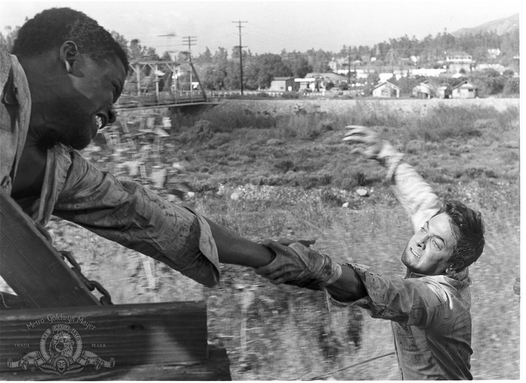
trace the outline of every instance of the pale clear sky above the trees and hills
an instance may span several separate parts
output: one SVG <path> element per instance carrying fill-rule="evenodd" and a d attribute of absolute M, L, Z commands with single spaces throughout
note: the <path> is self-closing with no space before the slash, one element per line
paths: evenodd
<path fill-rule="evenodd" d="M 86 13 L 130 41 L 165 51 L 183 51 L 185 37 L 195 37 L 194 54 L 231 52 L 241 45 L 252 53 L 339 52 L 408 35 L 421 40 L 446 29 L 453 33 L 519 13 L 519 2 L 434 0 L 347 1 L 0 1 L 0 28 L 18 26 L 43 9 L 69 6 Z M 175 34 L 175 36 L 166 36 Z"/>

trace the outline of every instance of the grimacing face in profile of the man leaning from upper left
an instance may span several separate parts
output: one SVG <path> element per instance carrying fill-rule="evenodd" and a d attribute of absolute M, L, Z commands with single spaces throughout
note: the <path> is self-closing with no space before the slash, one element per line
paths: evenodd
<path fill-rule="evenodd" d="M 97 131 L 115 122 L 112 104 L 123 90 L 126 73 L 117 57 L 96 64 L 80 55 L 73 72 L 57 82 L 57 93 L 50 97 L 44 122 L 38 127 L 43 139 L 84 149 Z"/>

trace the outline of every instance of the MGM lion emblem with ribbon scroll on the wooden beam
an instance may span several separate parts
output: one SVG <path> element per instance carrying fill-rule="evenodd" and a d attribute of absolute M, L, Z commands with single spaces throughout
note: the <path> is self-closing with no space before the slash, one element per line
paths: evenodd
<path fill-rule="evenodd" d="M 113 367 L 115 358 L 110 358 L 107 362 L 93 352 L 82 351 L 82 338 L 77 330 L 68 325 L 55 325 L 44 331 L 39 351 L 29 352 L 17 362 L 7 360 L 9 367 L 27 370 L 29 365 L 35 365 L 49 374 L 66 375 L 80 372 L 87 365 L 94 365 L 96 370 L 100 367 Z M 35 368 L 31 370 L 34 371 Z"/>

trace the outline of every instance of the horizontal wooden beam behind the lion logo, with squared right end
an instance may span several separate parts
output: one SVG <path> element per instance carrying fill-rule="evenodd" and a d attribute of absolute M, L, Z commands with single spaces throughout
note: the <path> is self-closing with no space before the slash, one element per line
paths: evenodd
<path fill-rule="evenodd" d="M 22 370 L 9 367 L 7 360 L 23 360 L 33 351 L 52 355 L 48 350 L 60 330 L 56 325 L 70 335 L 74 352 L 93 352 L 105 361 L 114 358 L 117 367 L 207 358 L 205 302 L 2 310 L 0 371 Z"/>

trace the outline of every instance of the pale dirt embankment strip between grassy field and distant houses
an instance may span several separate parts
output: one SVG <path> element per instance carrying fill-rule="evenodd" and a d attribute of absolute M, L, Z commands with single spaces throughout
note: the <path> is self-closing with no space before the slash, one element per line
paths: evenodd
<path fill-rule="evenodd" d="M 221 109 L 236 109 L 240 108 L 249 110 L 254 113 L 272 113 L 272 114 L 288 114 L 295 113 L 298 109 L 303 109 L 306 112 L 339 112 L 350 110 L 357 105 L 364 107 L 373 107 L 379 110 L 398 110 L 401 112 L 418 112 L 424 113 L 426 110 L 437 107 L 438 105 L 451 106 L 493 106 L 498 111 L 504 111 L 510 106 L 519 107 L 520 99 L 431 99 L 431 100 L 222 100 L 217 106 Z"/>

